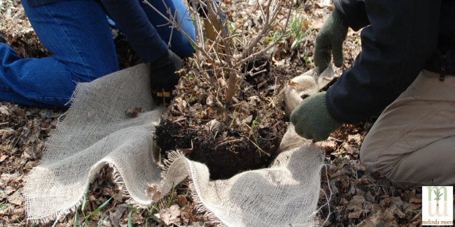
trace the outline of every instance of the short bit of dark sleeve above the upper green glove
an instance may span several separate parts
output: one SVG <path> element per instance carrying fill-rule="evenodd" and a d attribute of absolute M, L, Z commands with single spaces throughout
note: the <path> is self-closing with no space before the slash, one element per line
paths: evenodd
<path fill-rule="evenodd" d="M 364 0 L 334 0 L 333 4 L 354 31 L 358 31 L 360 28 L 370 24 Z"/>

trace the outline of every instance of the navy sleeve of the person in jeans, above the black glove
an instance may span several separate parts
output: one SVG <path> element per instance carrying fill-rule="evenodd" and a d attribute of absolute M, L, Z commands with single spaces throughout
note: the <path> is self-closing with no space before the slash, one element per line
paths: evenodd
<path fill-rule="evenodd" d="M 109 16 L 128 38 L 132 48 L 145 63 L 153 62 L 168 51 L 142 9 L 140 1 L 101 0 Z"/>

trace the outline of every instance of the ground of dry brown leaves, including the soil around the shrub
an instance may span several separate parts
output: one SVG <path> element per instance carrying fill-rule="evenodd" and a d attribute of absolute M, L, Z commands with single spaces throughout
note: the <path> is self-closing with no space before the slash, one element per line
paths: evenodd
<path fill-rule="evenodd" d="M 318 29 L 332 10 L 325 2 L 307 0 L 294 3 L 294 6 L 299 5 L 300 12 L 314 29 Z M 250 27 L 260 23 L 255 19 L 242 21 L 242 14 L 248 13 L 250 2 L 223 3 L 222 8 L 231 21 L 250 23 Z M 24 16 L 20 2 L 2 2 L 0 7 L 0 29 L 19 55 L 47 56 Z M 124 37 L 115 30 L 113 33 L 121 68 L 138 64 L 140 61 Z M 336 73 L 352 66 L 360 50 L 358 34 L 349 32 L 344 45 L 345 63 Z M 296 48 L 290 48 L 292 41 L 292 37 L 288 38 L 270 55 L 255 60 L 267 63 L 269 69 L 266 73 L 245 78 L 230 106 L 219 106 L 216 97 L 204 93 L 204 86 L 208 85 L 203 82 L 191 80 L 191 77 L 182 78 L 177 86 L 178 95 L 168 106 L 157 129 L 157 143 L 163 150 L 178 148 L 190 158 L 207 163 L 213 179 L 267 166 L 276 155 L 286 130 L 285 122 L 289 121 L 280 102 L 280 91 L 288 80 L 313 67 L 310 59 L 314 32 Z M 190 72 L 191 61 L 187 61 L 186 67 Z M 25 219 L 22 187 L 30 169 L 39 163 L 44 142 L 57 127 L 58 117 L 63 112 L 0 102 L 1 225 L 30 225 Z M 392 187 L 387 179 L 368 172 L 359 161 L 359 147 L 375 120 L 344 125 L 327 141 L 320 142 L 326 151 L 327 164 L 321 171 L 320 210 L 317 212 L 321 225 L 421 225 L 421 189 Z M 58 219 L 57 226 L 207 226 L 203 213 L 194 208 L 188 181 L 175 186 L 154 206 L 136 209 L 125 203 L 126 195 L 112 179 L 113 169 L 106 166 L 90 184 L 85 206 Z"/>

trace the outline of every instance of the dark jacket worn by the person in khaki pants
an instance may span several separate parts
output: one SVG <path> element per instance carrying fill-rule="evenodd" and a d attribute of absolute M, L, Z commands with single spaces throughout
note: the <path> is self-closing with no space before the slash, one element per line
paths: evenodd
<path fill-rule="evenodd" d="M 361 31 L 361 52 L 326 95 L 340 122 L 379 113 L 423 70 L 455 75 L 455 1 L 334 0 L 348 25 Z M 454 66 L 454 67 L 452 67 Z M 438 78 L 435 78 L 438 80 Z M 443 83 L 443 82 L 441 82 Z"/>

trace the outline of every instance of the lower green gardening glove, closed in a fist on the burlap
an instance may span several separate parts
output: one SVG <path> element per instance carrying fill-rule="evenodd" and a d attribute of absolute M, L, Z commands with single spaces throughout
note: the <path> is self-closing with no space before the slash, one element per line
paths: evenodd
<path fill-rule="evenodd" d="M 327 109 L 326 92 L 315 93 L 303 99 L 292 111 L 291 123 L 297 134 L 314 141 L 327 139 L 342 124 Z"/>

